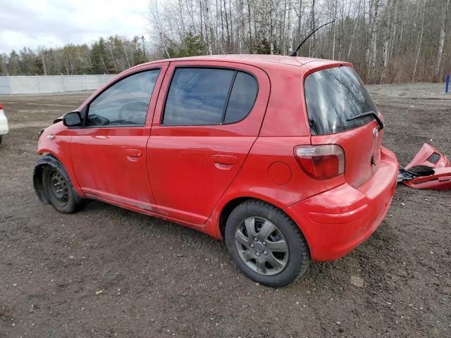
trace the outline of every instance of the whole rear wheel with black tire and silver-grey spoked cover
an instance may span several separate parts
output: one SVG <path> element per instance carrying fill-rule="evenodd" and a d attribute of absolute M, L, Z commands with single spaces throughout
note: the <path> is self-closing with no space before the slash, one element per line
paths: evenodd
<path fill-rule="evenodd" d="M 230 256 L 247 277 L 282 287 L 309 265 L 309 249 L 299 227 L 280 209 L 249 200 L 230 213 L 226 223 Z"/>

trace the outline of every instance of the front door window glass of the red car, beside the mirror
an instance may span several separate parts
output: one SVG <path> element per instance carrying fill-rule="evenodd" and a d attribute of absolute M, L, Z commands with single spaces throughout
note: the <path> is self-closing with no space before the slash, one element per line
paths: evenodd
<path fill-rule="evenodd" d="M 89 104 L 85 126 L 144 125 L 159 69 L 132 74 L 116 82 Z"/>

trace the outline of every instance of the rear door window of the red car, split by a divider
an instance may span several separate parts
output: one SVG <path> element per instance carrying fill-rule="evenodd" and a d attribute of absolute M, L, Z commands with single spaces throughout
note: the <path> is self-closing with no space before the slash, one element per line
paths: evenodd
<path fill-rule="evenodd" d="M 176 68 L 163 125 L 221 125 L 249 113 L 257 98 L 252 75 L 223 68 Z"/>

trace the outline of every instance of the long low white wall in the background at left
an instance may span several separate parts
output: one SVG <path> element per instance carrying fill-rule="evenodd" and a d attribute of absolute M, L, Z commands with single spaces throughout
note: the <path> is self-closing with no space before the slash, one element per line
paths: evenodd
<path fill-rule="evenodd" d="M 94 90 L 115 75 L 0 76 L 0 94 L 42 94 Z"/>

